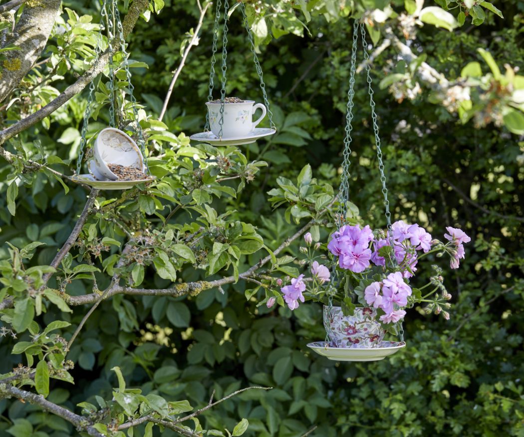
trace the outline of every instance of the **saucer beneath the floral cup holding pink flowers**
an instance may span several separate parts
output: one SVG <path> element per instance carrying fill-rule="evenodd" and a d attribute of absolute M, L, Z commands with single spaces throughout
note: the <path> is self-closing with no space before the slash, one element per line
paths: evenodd
<path fill-rule="evenodd" d="M 345 348 L 329 347 L 326 342 L 309 343 L 308 347 L 317 354 L 335 361 L 378 361 L 406 347 L 402 342 L 380 342 L 380 347 Z"/>

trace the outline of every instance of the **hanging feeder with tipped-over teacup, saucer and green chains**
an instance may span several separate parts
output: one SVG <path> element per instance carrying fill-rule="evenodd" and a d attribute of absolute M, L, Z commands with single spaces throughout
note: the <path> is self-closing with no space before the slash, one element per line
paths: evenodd
<path fill-rule="evenodd" d="M 106 23 L 108 47 L 111 50 L 107 86 L 110 100 L 110 127 L 103 129 L 96 136 L 93 144 L 93 156 L 88 162 L 89 174 L 80 174 L 87 143 L 86 134 L 88 132 L 89 119 L 93 112 L 94 83 L 91 82 L 81 132 L 77 173 L 71 176 L 70 179 L 73 182 L 89 185 L 97 189 L 123 190 L 141 183 L 151 182 L 155 177 L 149 173 L 149 168 L 145 161 L 146 147 L 144 132 L 138 121 L 138 110 L 136 107 L 136 99 L 133 95 L 133 84 L 131 83 L 131 74 L 129 72 L 129 64 L 125 50 L 122 22 L 120 20 L 120 14 L 118 13 L 116 0 L 103 0 L 101 13 L 102 21 L 105 20 Z M 101 39 L 101 35 L 99 35 L 95 48 L 97 57 L 100 55 Z M 115 115 L 117 115 L 118 120 L 123 119 L 115 96 L 114 52 L 112 46 L 112 41 L 115 39 L 123 55 L 122 63 L 126 74 L 126 81 L 128 82 L 129 99 L 133 108 L 135 125 L 133 130 L 137 136 L 137 142 L 125 132 L 115 127 L 117 124 Z"/>

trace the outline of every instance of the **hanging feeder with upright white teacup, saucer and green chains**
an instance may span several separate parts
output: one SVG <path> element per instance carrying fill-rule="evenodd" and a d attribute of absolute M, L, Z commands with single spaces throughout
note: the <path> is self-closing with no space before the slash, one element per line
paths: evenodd
<path fill-rule="evenodd" d="M 228 0 L 224 0 L 223 8 L 222 88 L 220 99 L 213 100 L 216 62 L 215 54 L 217 50 L 216 43 L 219 34 L 219 23 L 222 11 L 221 1 L 218 0 L 216 3 L 215 24 L 213 27 L 213 54 L 211 56 L 211 70 L 209 75 L 209 95 L 208 102 L 206 102 L 208 112 L 206 113 L 204 132 L 190 136 L 190 139 L 194 141 L 220 146 L 238 146 L 254 143 L 259 138 L 273 135 L 277 132 L 272 120 L 271 111 L 269 110 L 269 101 L 267 98 L 264 76 L 255 51 L 255 43 L 247 21 L 245 6 L 242 2 L 237 5 L 242 12 L 244 27 L 246 28 L 250 48 L 253 53 L 253 61 L 260 79 L 260 89 L 264 97 L 264 104 L 256 103 L 253 100 L 239 99 L 237 97 L 226 97 L 225 95 L 227 70 L 227 21 L 229 19 L 229 13 L 231 12 Z M 258 109 L 261 110 L 262 114 L 256 121 L 253 121 L 253 116 Z M 269 124 L 271 127 L 257 127 L 257 125 L 265 118 L 266 114 L 269 117 Z"/>

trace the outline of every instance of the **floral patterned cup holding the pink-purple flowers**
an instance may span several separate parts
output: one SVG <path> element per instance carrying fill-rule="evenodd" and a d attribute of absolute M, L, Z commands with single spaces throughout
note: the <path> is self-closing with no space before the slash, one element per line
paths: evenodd
<path fill-rule="evenodd" d="M 376 320 L 375 308 L 355 308 L 352 316 L 345 316 L 340 306 L 324 306 L 324 328 L 331 347 L 380 347 L 386 332 Z"/>

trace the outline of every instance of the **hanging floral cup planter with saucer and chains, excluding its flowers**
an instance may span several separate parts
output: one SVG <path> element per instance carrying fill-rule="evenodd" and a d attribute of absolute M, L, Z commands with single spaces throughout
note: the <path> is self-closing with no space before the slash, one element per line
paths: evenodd
<path fill-rule="evenodd" d="M 373 101 L 372 80 L 370 76 L 370 66 L 368 62 L 367 43 L 365 39 L 365 28 L 361 20 L 355 20 L 353 27 L 353 47 L 351 56 L 350 70 L 350 88 L 348 90 L 347 112 L 346 112 L 346 135 L 344 139 L 344 162 L 342 164 L 342 181 L 339 190 L 339 210 L 336 215 L 336 227 L 339 230 L 346 225 L 347 202 L 349 200 L 349 169 L 351 155 L 351 131 L 353 120 L 353 100 L 356 70 L 356 50 L 358 45 L 358 31 L 362 36 L 364 50 L 364 61 L 366 62 L 367 83 L 369 92 L 369 101 L 373 119 L 373 128 L 375 131 L 375 143 L 377 147 L 377 156 L 379 162 L 380 180 L 382 192 L 384 194 L 384 205 L 386 207 L 387 220 L 387 238 L 391 247 L 394 246 L 392 241 L 391 216 L 389 212 L 389 201 L 387 198 L 386 177 L 384 175 L 384 164 L 382 162 L 382 152 L 380 149 L 380 138 L 378 135 L 377 115 L 375 113 L 375 102 Z M 331 275 L 331 284 L 334 290 L 341 287 L 342 282 L 339 278 L 339 272 L 336 269 L 336 260 L 333 265 Z M 377 310 L 374 307 L 355 307 L 353 315 L 344 315 L 340 306 L 333 306 L 333 294 L 329 295 L 328 305 L 324 306 L 324 328 L 326 338 L 323 342 L 309 343 L 308 347 L 317 354 L 325 356 L 331 360 L 337 361 L 377 361 L 395 354 L 398 350 L 405 347 L 402 322 L 397 323 L 397 333 L 400 342 L 385 341 L 386 334 L 383 326 L 377 320 Z"/>

